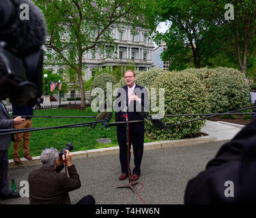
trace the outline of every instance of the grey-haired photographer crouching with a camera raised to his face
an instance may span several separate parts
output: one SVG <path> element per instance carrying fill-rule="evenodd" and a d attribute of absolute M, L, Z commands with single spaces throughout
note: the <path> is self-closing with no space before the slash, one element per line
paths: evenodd
<path fill-rule="evenodd" d="M 69 150 L 72 150 L 71 143 L 60 152 L 55 148 L 42 151 L 42 168 L 29 173 L 30 204 L 71 204 L 68 192 L 79 189 L 81 182 L 76 167 L 71 163 Z M 61 173 L 63 163 L 66 163 L 70 177 Z M 95 200 L 92 196 L 86 196 L 77 204 L 95 204 Z"/>

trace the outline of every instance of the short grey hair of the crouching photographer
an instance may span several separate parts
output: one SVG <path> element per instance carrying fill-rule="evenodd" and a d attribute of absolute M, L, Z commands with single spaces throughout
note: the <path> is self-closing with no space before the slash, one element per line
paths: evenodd
<path fill-rule="evenodd" d="M 59 159 L 59 152 L 55 148 L 44 149 L 40 155 L 43 166 L 55 166 L 55 161 Z"/>

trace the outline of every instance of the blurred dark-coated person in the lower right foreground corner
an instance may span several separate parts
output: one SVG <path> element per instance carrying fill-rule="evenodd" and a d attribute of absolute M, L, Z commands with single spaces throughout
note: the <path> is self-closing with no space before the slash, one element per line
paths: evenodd
<path fill-rule="evenodd" d="M 255 204 L 256 119 L 221 146 L 206 169 L 190 179 L 185 204 Z"/>

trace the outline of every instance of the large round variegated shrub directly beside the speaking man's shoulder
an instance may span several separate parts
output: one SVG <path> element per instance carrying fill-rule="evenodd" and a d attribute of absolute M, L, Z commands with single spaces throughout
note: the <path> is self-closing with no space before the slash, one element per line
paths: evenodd
<path fill-rule="evenodd" d="M 207 89 L 197 76 L 188 72 L 164 72 L 158 76 L 152 87 L 156 88 L 156 93 L 159 93 L 160 88 L 165 88 L 165 114 L 198 114 L 208 113 L 209 95 Z M 159 97 L 157 97 L 157 105 Z M 150 108 L 150 114 L 153 114 Z M 175 116 L 165 117 L 163 121 L 166 125 L 181 123 L 199 117 L 190 116 Z M 193 136 L 197 134 L 204 120 L 176 125 L 171 127 L 169 134 L 165 130 L 160 130 L 154 127 L 150 121 L 145 121 L 145 129 L 147 136 L 158 140 L 177 140 L 184 136 Z"/>

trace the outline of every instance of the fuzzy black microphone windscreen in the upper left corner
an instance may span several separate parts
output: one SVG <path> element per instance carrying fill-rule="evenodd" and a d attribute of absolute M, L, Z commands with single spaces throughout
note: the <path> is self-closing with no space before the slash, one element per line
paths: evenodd
<path fill-rule="evenodd" d="M 46 40 L 46 24 L 42 11 L 31 0 L 12 0 L 15 19 L 9 27 L 1 29 L 0 40 L 7 42 L 21 55 L 27 55 L 40 48 Z M 28 5 L 29 20 L 20 19 L 20 5 Z"/>

